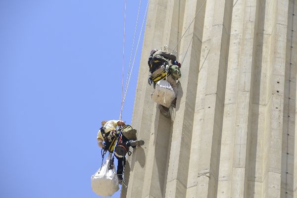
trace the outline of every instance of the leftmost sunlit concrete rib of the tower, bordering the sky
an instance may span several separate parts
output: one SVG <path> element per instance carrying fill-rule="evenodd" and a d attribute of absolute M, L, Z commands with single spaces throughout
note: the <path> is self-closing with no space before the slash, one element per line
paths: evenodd
<path fill-rule="evenodd" d="M 165 16 L 167 0 L 151 0 L 148 8 L 148 19 L 144 36 L 143 55 L 139 70 L 138 86 L 135 96 L 134 113 L 132 126 L 138 130 L 138 139 L 144 140 L 147 144 L 150 138 L 151 122 L 154 121 L 152 114 L 154 102 L 150 99 L 152 88 L 148 86 L 148 66 L 147 58 L 150 50 L 154 46 L 161 46 L 162 35 L 164 34 Z M 127 189 L 122 191 L 121 197 L 140 198 L 143 194 L 143 188 L 134 191 L 139 185 L 144 185 L 144 171 L 147 164 L 148 147 L 134 149 L 133 155 L 128 157 L 128 163 L 125 170 L 125 178 L 128 183 Z M 132 182 L 131 182 L 132 181 Z"/>

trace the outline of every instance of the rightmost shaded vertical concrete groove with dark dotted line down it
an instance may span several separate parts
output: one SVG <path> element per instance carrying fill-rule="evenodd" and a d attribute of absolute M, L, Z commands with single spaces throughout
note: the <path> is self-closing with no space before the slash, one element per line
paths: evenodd
<path fill-rule="evenodd" d="M 296 10 L 294 0 L 288 2 L 288 25 L 285 69 L 285 93 L 284 93 L 284 126 L 283 126 L 283 150 L 282 150 L 282 175 L 281 197 L 296 198 L 296 25 L 294 24 L 294 12 Z M 295 42 L 294 42 L 295 41 Z M 292 48 L 293 47 L 293 48 Z"/>

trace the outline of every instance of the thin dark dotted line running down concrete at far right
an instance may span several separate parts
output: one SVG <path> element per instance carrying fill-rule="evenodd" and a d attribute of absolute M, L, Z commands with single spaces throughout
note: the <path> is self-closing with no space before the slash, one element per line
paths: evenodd
<path fill-rule="evenodd" d="M 291 31 L 291 51 L 290 51 L 290 70 L 289 70 L 289 96 L 288 96 L 288 123 L 287 123 L 287 160 L 286 160 L 286 198 L 288 195 L 288 156 L 289 156 L 289 122 L 290 122 L 290 99 L 291 99 L 291 68 L 292 68 L 292 48 L 293 48 L 293 28 L 294 28 L 294 6 L 295 6 L 295 0 L 293 0 L 293 12 L 292 12 L 292 31 Z M 294 193 L 294 189 L 293 189 Z"/>

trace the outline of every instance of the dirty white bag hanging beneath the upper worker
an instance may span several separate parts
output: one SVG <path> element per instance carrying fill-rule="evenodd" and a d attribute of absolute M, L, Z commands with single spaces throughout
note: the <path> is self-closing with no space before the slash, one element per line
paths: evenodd
<path fill-rule="evenodd" d="M 170 83 L 165 80 L 160 80 L 156 83 L 155 89 L 151 94 L 151 99 L 156 103 L 170 107 L 171 102 L 176 98 Z"/>

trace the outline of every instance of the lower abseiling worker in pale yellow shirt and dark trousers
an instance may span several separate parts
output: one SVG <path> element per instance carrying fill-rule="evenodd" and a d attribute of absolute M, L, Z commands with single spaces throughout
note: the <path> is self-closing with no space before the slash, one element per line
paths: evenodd
<path fill-rule="evenodd" d="M 102 121 L 101 128 L 97 135 L 97 142 L 100 148 L 113 152 L 118 159 L 117 175 L 123 180 L 123 171 L 126 163 L 126 153 L 129 154 L 129 147 L 135 148 L 145 144 L 143 140 L 136 140 L 136 130 L 126 125 L 122 120 Z M 118 128 L 118 130 L 117 130 Z M 117 142 L 117 140 L 119 140 Z M 131 153 L 131 152 L 130 152 Z"/>

